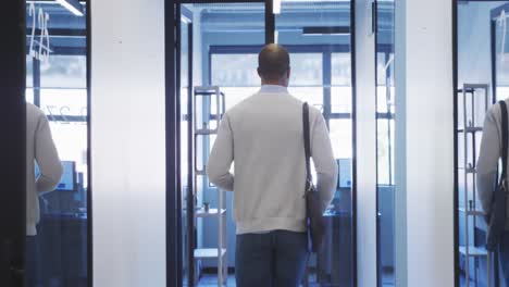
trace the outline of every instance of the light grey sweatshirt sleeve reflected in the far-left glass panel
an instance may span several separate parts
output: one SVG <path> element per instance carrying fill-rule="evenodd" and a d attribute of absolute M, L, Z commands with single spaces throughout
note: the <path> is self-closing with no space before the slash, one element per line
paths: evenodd
<path fill-rule="evenodd" d="M 39 177 L 35 178 L 35 163 Z M 26 104 L 26 234 L 35 236 L 39 222 L 39 195 L 51 191 L 62 176 L 62 164 L 57 153 L 48 118 L 37 107 Z"/>

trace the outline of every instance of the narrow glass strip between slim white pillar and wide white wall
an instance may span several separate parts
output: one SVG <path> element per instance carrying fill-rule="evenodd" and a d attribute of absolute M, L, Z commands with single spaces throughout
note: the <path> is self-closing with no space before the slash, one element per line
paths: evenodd
<path fill-rule="evenodd" d="M 376 1 L 377 286 L 395 286 L 395 1 Z"/>

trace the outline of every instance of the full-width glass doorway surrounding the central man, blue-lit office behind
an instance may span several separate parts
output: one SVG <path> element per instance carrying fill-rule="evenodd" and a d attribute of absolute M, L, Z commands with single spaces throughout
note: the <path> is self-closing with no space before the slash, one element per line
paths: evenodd
<path fill-rule="evenodd" d="M 197 3 L 195 3 L 197 2 Z M 235 286 L 235 224 L 233 195 L 225 195 L 225 221 L 203 211 L 220 211 L 218 189 L 202 167 L 213 146 L 219 111 L 202 88 L 220 87 L 224 108 L 254 93 L 260 87 L 258 53 L 266 41 L 285 46 L 291 57 L 289 91 L 319 108 L 331 130 L 340 166 L 333 203 L 327 209 L 327 247 L 313 257 L 306 285 L 356 285 L 356 197 L 353 185 L 352 1 L 193 1 L 177 5 L 177 88 L 181 154 L 178 235 L 181 274 L 185 286 Z M 271 13 L 274 12 L 274 13 Z M 221 211 L 219 213 L 222 213 Z M 208 215 L 213 214 L 209 213 Z M 220 239 L 221 226 L 225 236 Z M 224 260 L 218 258 L 222 249 Z M 220 255 L 221 257 L 221 255 Z M 221 264 L 228 274 L 221 276 Z"/>

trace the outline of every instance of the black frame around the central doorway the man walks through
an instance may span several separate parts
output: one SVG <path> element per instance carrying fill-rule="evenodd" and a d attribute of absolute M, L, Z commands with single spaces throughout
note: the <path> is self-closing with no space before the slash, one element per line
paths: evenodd
<path fill-rule="evenodd" d="M 183 285 L 182 247 L 182 191 L 181 191 L 181 80 L 179 41 L 181 4 L 186 3 L 264 3 L 265 42 L 274 42 L 275 15 L 273 0 L 166 0 L 165 15 L 165 121 L 166 121 L 166 286 Z M 350 27 L 356 27 L 356 1 L 350 1 Z M 352 178 L 357 176 L 357 112 L 356 112 L 356 32 L 351 29 L 351 85 L 352 85 Z M 191 71 L 190 68 L 189 71 Z M 191 73 L 191 72 L 190 72 Z M 191 77 L 193 78 L 193 75 Z M 190 95 L 190 93 L 189 93 Z M 188 115 L 191 113 L 188 107 Z M 191 116 L 189 116 L 190 118 Z M 189 149 L 191 150 L 191 149 Z M 191 152 L 191 151 L 190 151 Z M 188 154 L 188 157 L 191 157 Z M 188 159 L 189 160 L 189 159 Z M 190 161 L 193 162 L 193 161 Z M 189 182 L 191 183 L 191 182 Z M 193 203 L 193 202 L 191 202 Z M 353 286 L 357 286 L 357 185 L 352 185 L 352 272 Z M 187 219 L 189 220 L 189 219 Z M 188 254 L 193 254 L 189 252 Z M 189 260 L 189 259 L 188 259 Z M 188 276 L 188 280 L 193 276 Z M 190 283 L 190 282 L 188 282 Z M 193 286 L 193 285 L 189 285 Z"/>

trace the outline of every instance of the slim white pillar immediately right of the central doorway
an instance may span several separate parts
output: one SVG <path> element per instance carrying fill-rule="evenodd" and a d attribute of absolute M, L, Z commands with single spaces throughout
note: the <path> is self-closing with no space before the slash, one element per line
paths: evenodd
<path fill-rule="evenodd" d="M 372 0 L 356 1 L 357 278 L 376 286 L 376 101 Z"/>

